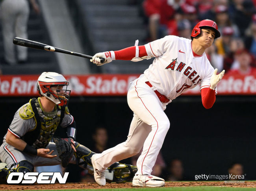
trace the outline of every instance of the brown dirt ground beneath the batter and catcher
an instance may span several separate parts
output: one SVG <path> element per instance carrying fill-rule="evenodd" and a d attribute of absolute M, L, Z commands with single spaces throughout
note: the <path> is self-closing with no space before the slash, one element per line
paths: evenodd
<path fill-rule="evenodd" d="M 166 182 L 165 187 L 173 186 L 223 186 L 223 187 L 256 187 L 256 181 L 244 183 L 225 183 L 219 182 Z M 67 183 L 67 184 L 33 184 L 33 185 L 8 185 L 0 184 L 0 190 L 37 190 L 37 189 L 98 189 L 98 188 L 131 188 L 132 183 L 125 184 L 106 184 L 98 186 L 96 183 Z"/>

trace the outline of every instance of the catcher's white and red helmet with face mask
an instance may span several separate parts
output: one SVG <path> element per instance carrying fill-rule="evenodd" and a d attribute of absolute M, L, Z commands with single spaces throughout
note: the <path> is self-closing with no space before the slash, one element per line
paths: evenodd
<path fill-rule="evenodd" d="M 67 106 L 69 102 L 69 82 L 63 75 L 55 72 L 43 72 L 37 80 L 37 91 L 59 106 Z M 54 88 L 53 88 L 54 87 Z"/>

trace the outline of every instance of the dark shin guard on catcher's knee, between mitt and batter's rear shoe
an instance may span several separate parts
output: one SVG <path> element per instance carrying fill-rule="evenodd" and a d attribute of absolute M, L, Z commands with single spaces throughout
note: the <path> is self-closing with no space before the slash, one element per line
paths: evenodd
<path fill-rule="evenodd" d="M 92 166 L 91 156 L 95 153 L 78 142 L 74 142 L 74 144 L 76 148 L 76 153 L 74 153 L 74 155 L 76 156 L 76 164 L 83 169 L 87 169 L 87 164 Z"/>

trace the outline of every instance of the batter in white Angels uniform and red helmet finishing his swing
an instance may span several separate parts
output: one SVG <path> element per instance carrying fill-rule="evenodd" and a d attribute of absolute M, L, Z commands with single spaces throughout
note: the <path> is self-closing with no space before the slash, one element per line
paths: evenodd
<path fill-rule="evenodd" d="M 112 60 L 139 61 L 154 57 L 153 63 L 128 90 L 128 105 L 134 112 L 128 138 L 125 142 L 93 155 L 94 177 L 99 185 L 105 185 L 104 170 L 113 162 L 143 151 L 137 160 L 138 171 L 132 185 L 141 187 L 164 186 L 163 178 L 150 175 L 165 135 L 170 127 L 164 110 L 172 100 L 188 89 L 200 85 L 202 104 L 213 106 L 216 86 L 224 75 L 217 75 L 204 53 L 221 34 L 212 20 L 202 20 L 191 33 L 191 40 L 178 36 L 165 36 L 143 46 L 128 47 L 120 51 L 97 53 L 91 59 L 96 65 Z M 105 58 L 100 63 L 100 58 Z"/>

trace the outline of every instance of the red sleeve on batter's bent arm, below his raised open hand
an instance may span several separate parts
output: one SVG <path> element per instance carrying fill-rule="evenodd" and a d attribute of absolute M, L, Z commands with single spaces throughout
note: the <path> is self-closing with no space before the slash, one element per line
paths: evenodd
<path fill-rule="evenodd" d="M 215 90 L 210 89 L 210 87 L 203 88 L 201 89 L 201 97 L 203 106 L 206 109 L 210 109 L 216 100 Z"/>

